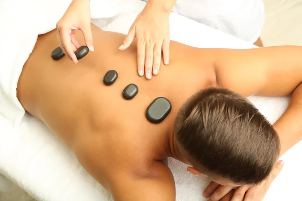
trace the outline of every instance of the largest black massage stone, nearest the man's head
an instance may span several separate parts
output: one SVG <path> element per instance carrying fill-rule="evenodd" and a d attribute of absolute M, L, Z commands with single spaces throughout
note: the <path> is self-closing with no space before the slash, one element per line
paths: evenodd
<path fill-rule="evenodd" d="M 158 97 L 148 106 L 146 117 L 149 122 L 161 123 L 171 112 L 172 105 L 170 100 L 165 97 Z"/>

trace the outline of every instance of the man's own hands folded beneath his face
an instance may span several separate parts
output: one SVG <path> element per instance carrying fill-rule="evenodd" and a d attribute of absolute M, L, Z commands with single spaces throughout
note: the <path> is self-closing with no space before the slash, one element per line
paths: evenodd
<path fill-rule="evenodd" d="M 283 161 L 278 161 L 269 178 L 259 185 L 243 185 L 234 190 L 233 187 L 222 186 L 212 181 L 204 190 L 203 195 L 209 197 L 208 200 L 210 201 L 262 201 L 269 186 L 282 170 L 283 165 Z"/>

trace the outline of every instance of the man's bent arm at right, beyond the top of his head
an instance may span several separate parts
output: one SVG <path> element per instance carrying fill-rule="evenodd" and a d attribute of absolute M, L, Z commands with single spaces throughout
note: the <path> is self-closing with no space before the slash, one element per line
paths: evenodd
<path fill-rule="evenodd" d="M 288 109 L 274 125 L 281 140 L 281 155 L 302 140 L 302 47 L 213 51 L 219 86 L 245 96 L 292 94 Z"/>

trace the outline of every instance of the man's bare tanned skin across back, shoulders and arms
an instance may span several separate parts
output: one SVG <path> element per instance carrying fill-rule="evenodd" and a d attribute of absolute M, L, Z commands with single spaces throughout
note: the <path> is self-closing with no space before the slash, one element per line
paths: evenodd
<path fill-rule="evenodd" d="M 95 52 L 77 65 L 66 56 L 51 59 L 51 51 L 58 46 L 56 31 L 40 35 L 23 67 L 17 96 L 24 109 L 43 121 L 115 200 L 175 200 L 167 158 L 188 161 L 177 147 L 173 123 L 184 102 L 202 88 L 226 87 L 246 96 L 293 93 L 275 129 L 281 153 L 300 140 L 301 47 L 199 49 L 172 41 L 170 65 L 161 63 L 161 73 L 146 80 L 137 75 L 135 43 L 120 51 L 117 47 L 125 35 L 91 27 Z M 83 44 L 82 36 L 75 31 Z M 106 86 L 102 79 L 111 69 L 119 76 Z M 121 94 L 129 83 L 135 83 L 139 92 L 125 100 Z M 145 110 L 159 96 L 170 100 L 172 111 L 161 124 L 152 124 Z M 285 137 L 287 131 L 291 133 Z M 191 172 L 197 170 L 191 168 Z M 225 180 L 221 184 L 232 186 Z"/>

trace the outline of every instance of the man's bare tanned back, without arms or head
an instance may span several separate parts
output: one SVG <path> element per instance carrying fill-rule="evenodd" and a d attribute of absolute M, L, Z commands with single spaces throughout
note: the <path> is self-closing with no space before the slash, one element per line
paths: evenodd
<path fill-rule="evenodd" d="M 214 83 L 209 53 L 171 42 L 170 64 L 161 65 L 152 80 L 136 70 L 136 45 L 118 50 L 124 35 L 92 26 L 95 52 L 73 64 L 66 56 L 52 60 L 58 46 L 56 31 L 38 37 L 18 83 L 23 107 L 41 119 L 107 189 L 108 175 L 118 167 L 129 174 L 152 174 L 157 162 L 169 156 L 168 135 L 185 100 Z M 77 38 L 83 44 L 81 33 Z M 108 70 L 118 72 L 111 86 L 103 83 Z M 130 83 L 138 94 L 125 100 L 122 91 Z M 145 118 L 146 108 L 167 97 L 172 111 L 161 124 Z M 151 168 L 152 167 L 152 168 Z"/>

